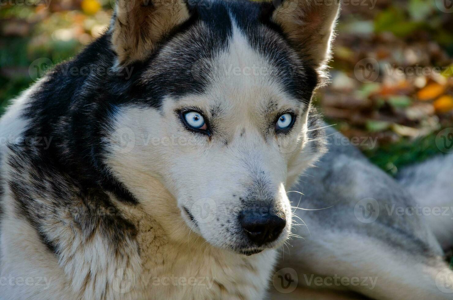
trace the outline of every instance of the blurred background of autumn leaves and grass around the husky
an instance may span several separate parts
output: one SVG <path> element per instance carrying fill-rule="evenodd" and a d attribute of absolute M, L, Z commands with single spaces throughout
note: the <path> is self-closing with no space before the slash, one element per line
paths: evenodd
<path fill-rule="evenodd" d="M 107 28 L 115 0 L 0 0 L 0 115 Z M 453 0 L 342 0 L 315 104 L 389 174 L 453 152 Z"/>

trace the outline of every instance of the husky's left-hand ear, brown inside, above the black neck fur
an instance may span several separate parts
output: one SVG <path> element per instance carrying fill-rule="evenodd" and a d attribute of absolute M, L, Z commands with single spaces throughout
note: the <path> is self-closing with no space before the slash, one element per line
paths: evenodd
<path fill-rule="evenodd" d="M 185 0 L 116 0 L 110 28 L 116 67 L 147 58 L 165 35 L 189 17 Z"/>

